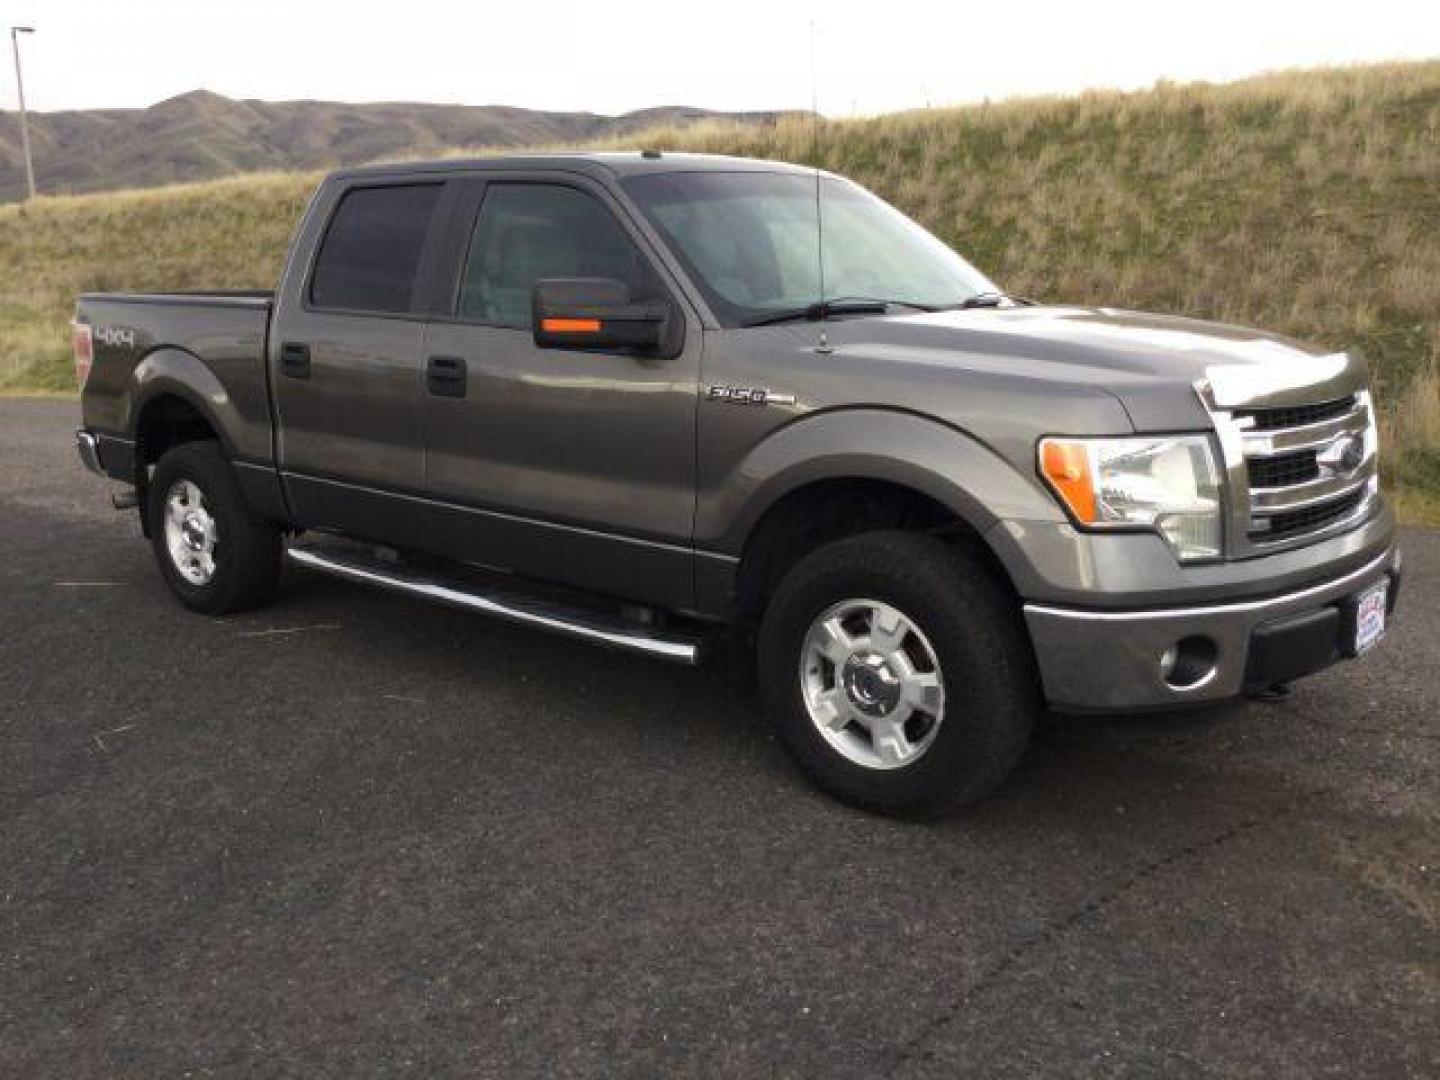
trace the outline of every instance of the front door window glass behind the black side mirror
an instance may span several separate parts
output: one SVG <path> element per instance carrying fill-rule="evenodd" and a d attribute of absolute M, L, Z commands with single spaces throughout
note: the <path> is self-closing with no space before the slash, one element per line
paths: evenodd
<path fill-rule="evenodd" d="M 492 184 L 469 242 L 459 317 L 528 330 L 541 278 L 615 278 L 635 300 L 661 295 L 645 258 L 592 196 L 557 184 Z"/>

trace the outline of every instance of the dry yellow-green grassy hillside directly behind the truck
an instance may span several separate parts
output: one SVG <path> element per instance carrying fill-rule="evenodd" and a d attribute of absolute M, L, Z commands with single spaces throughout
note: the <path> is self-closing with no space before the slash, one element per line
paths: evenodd
<path fill-rule="evenodd" d="M 608 145 L 816 160 L 795 120 Z M 1440 520 L 1440 62 L 827 122 L 819 145 L 1011 291 L 1362 350 L 1387 478 Z M 315 179 L 0 207 L 0 386 L 69 384 L 81 289 L 269 287 Z"/>

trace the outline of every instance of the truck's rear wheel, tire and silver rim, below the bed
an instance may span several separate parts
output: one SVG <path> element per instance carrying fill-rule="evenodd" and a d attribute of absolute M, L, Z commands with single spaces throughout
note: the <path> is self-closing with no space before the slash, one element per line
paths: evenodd
<path fill-rule="evenodd" d="M 279 528 L 245 505 L 219 444 L 166 451 L 150 480 L 145 516 L 160 573 L 192 611 L 243 611 L 275 590 Z"/>

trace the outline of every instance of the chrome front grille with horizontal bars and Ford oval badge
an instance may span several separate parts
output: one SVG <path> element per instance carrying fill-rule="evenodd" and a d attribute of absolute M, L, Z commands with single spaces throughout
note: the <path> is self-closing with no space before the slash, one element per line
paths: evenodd
<path fill-rule="evenodd" d="M 1378 494 L 1369 393 L 1318 403 L 1290 393 L 1269 408 L 1218 408 L 1215 422 L 1228 478 L 1227 550 L 1233 557 L 1310 543 L 1355 526 Z"/>

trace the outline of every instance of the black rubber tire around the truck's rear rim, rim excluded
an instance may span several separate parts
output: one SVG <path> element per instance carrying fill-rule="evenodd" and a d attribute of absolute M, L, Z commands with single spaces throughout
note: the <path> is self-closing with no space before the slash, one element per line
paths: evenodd
<path fill-rule="evenodd" d="M 170 553 L 166 505 L 181 481 L 199 488 L 215 526 L 213 564 L 209 580 L 189 580 Z M 184 442 L 166 451 L 156 465 L 145 497 L 150 546 L 170 590 L 192 611 L 206 615 L 255 608 L 269 599 L 279 579 L 281 531 L 274 521 L 256 517 L 216 442 Z"/>

